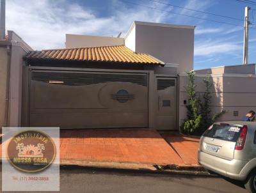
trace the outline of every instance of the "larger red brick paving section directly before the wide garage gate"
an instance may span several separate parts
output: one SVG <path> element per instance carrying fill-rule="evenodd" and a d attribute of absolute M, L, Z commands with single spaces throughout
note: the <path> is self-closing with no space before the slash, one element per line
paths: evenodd
<path fill-rule="evenodd" d="M 61 159 L 184 164 L 156 130 L 61 130 L 60 136 Z"/>

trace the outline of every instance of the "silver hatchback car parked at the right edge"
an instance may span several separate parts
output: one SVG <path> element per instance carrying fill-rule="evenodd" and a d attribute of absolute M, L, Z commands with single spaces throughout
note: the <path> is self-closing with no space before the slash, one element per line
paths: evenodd
<path fill-rule="evenodd" d="M 198 162 L 256 193 L 256 122 L 218 122 L 200 139 Z"/>

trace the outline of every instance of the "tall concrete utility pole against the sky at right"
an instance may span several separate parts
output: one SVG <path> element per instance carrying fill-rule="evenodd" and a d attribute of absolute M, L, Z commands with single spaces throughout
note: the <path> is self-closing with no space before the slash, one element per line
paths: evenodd
<path fill-rule="evenodd" d="M 244 12 L 244 54 L 243 54 L 243 65 L 248 64 L 248 39 L 249 39 L 249 10 L 248 6 L 245 7 Z"/>

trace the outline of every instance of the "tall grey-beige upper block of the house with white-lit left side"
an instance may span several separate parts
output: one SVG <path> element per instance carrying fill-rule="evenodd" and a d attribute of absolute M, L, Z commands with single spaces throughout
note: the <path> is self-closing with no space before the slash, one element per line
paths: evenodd
<path fill-rule="evenodd" d="M 134 27 L 135 30 L 131 27 L 125 36 L 127 47 L 132 49 L 131 41 L 135 42 L 135 52 L 150 54 L 164 63 L 178 64 L 178 73 L 193 70 L 194 26 L 134 22 Z"/>

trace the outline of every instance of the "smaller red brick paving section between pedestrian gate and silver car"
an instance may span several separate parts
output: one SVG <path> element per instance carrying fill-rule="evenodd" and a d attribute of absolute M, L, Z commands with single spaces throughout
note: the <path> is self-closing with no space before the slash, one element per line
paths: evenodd
<path fill-rule="evenodd" d="M 185 137 L 177 132 L 160 132 L 160 134 L 177 151 L 184 164 L 198 164 L 199 137 Z"/>

